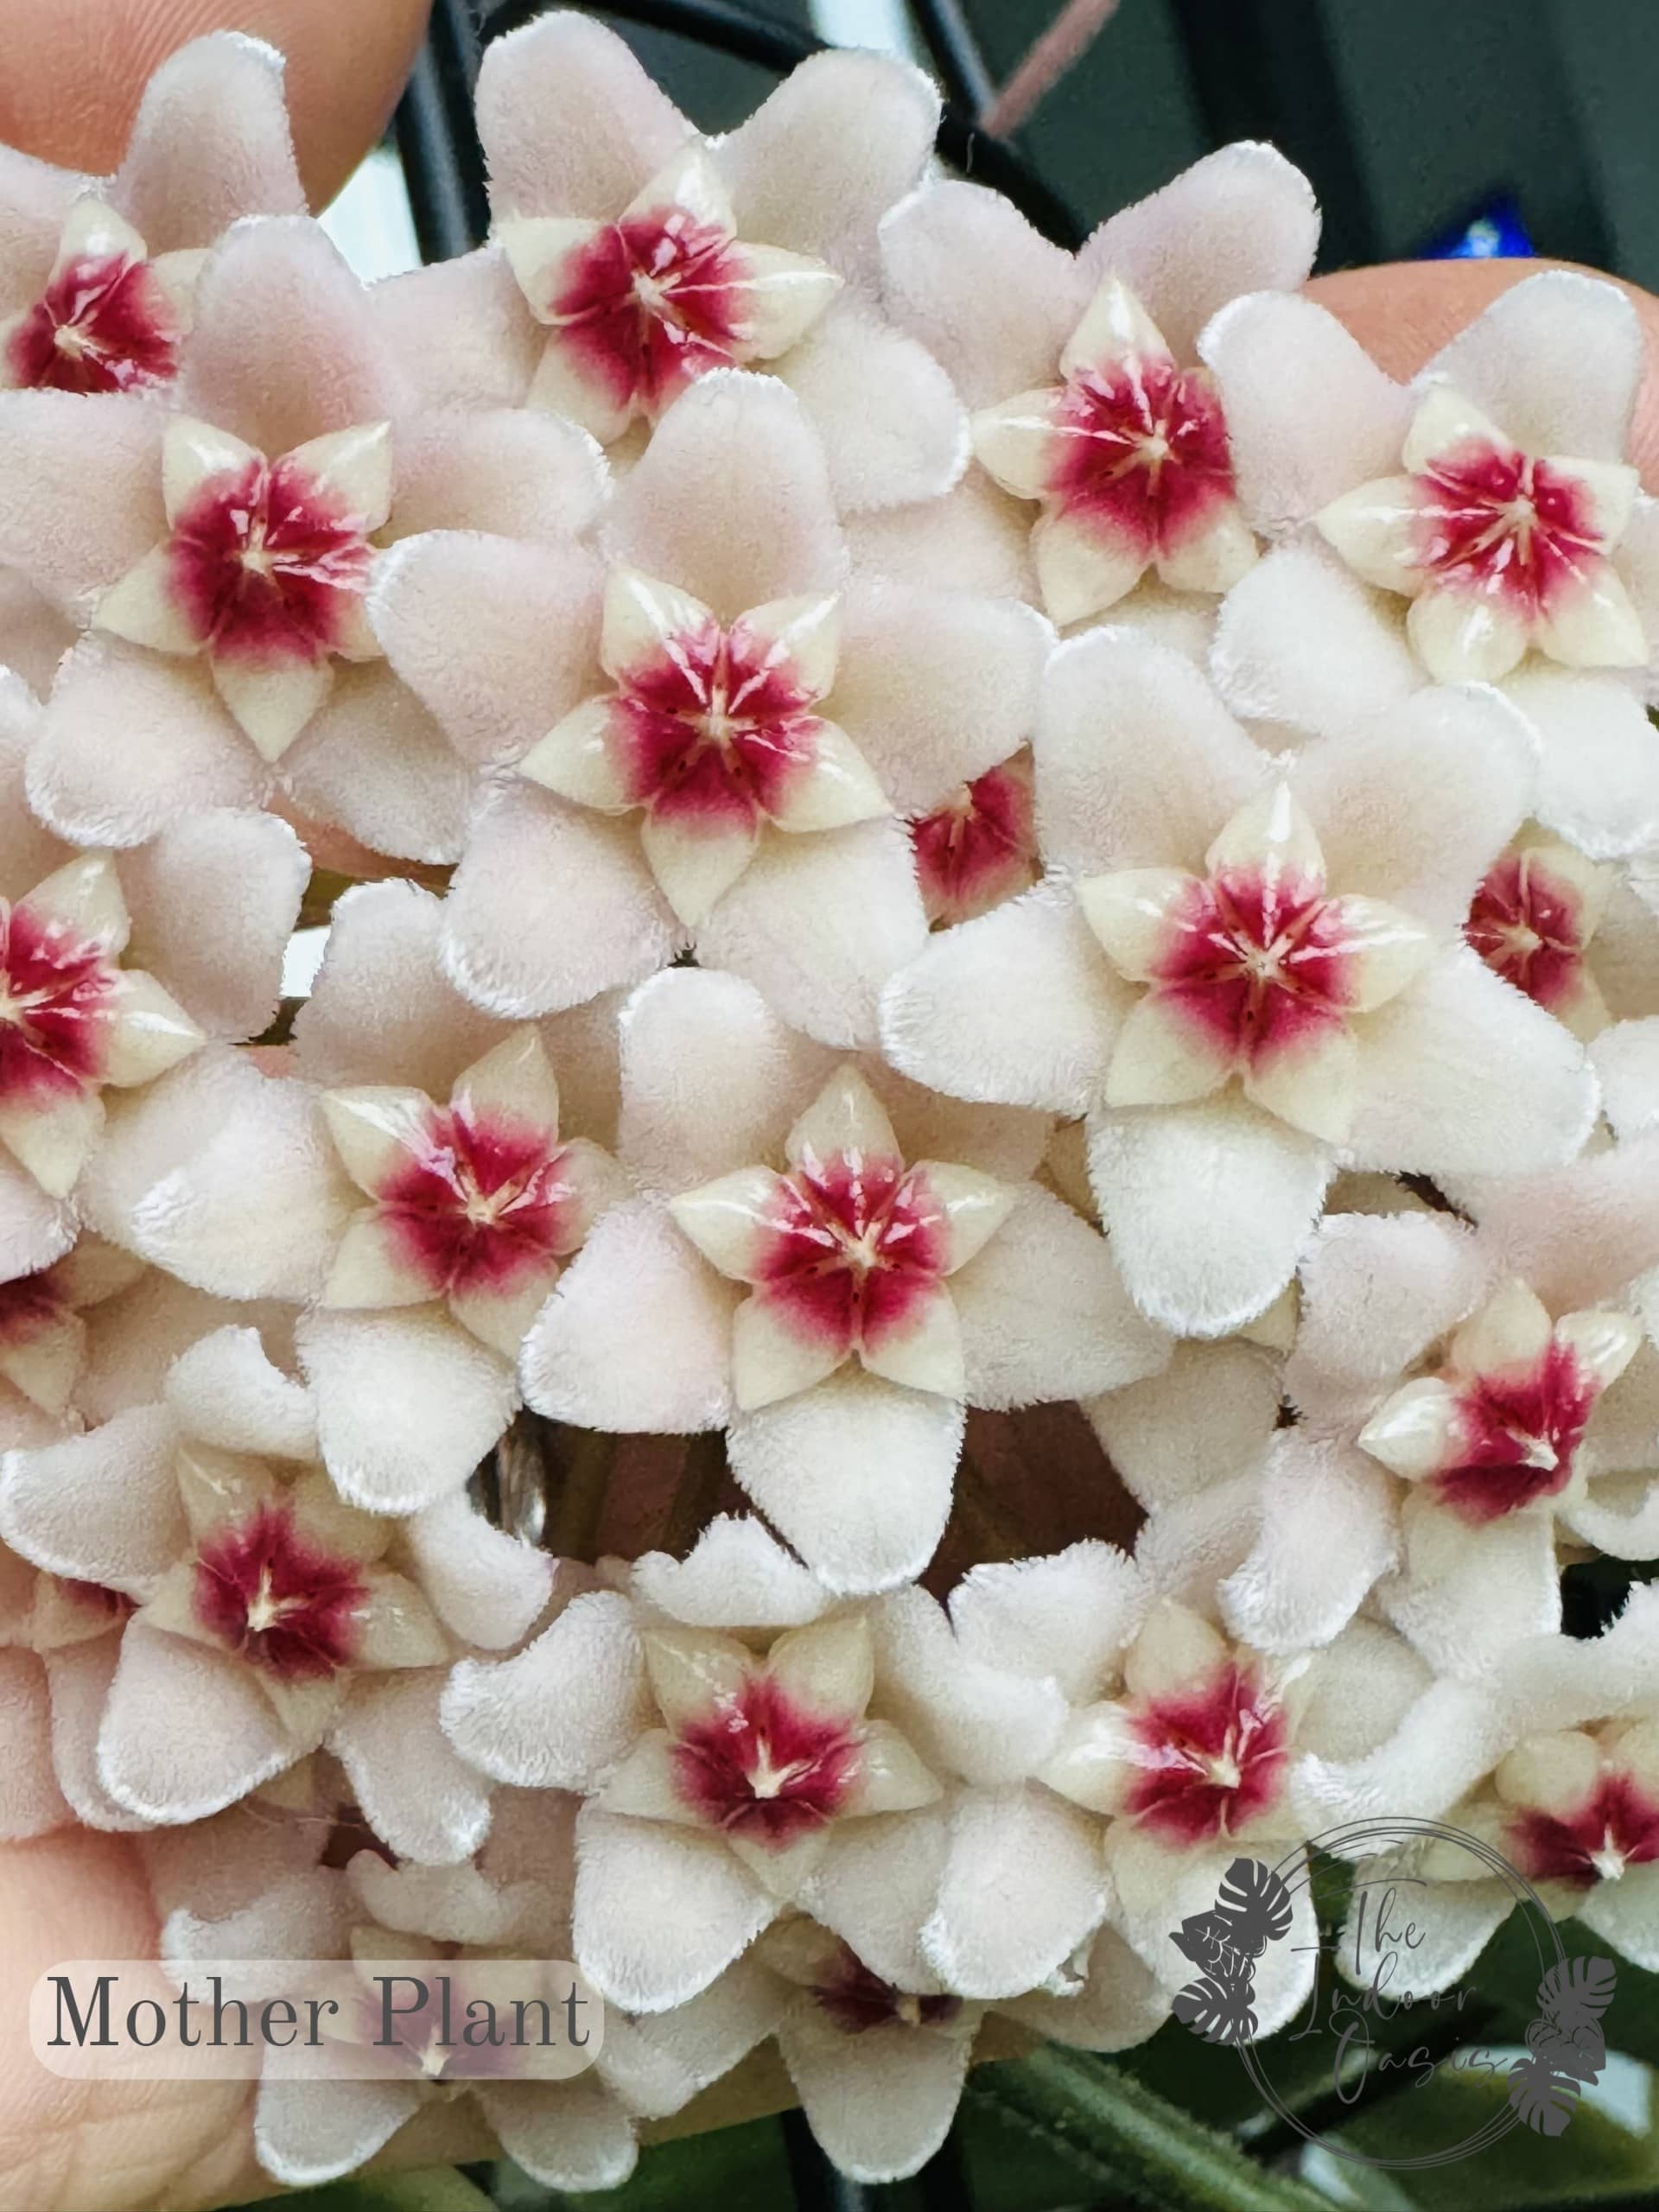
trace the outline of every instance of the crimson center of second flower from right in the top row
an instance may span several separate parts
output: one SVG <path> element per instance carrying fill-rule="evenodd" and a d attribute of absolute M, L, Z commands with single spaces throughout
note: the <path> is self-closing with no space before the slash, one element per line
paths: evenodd
<path fill-rule="evenodd" d="M 1055 429 L 1051 495 L 1130 535 L 1148 557 L 1177 551 L 1234 495 L 1221 405 L 1172 361 L 1130 356 L 1073 372 Z"/>

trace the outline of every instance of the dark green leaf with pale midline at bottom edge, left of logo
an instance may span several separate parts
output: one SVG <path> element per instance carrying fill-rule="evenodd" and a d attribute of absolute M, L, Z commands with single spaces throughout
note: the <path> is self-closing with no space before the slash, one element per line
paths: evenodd
<path fill-rule="evenodd" d="M 1194 2046 L 1197 2048 L 1197 2046 Z M 1144 2081 L 1051 2046 L 969 2077 L 969 2110 L 991 2110 L 1088 2181 L 1137 2205 L 1181 2212 L 1329 2212 L 1329 2199 L 1252 2163 L 1237 2143 Z"/>

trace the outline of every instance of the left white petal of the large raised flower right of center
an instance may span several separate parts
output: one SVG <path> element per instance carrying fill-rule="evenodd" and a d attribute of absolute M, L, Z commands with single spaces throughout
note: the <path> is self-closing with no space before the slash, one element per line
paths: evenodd
<path fill-rule="evenodd" d="M 1073 891 L 1040 885 L 936 936 L 883 993 L 883 1048 L 967 1099 L 1084 1113 L 1130 993 Z"/>

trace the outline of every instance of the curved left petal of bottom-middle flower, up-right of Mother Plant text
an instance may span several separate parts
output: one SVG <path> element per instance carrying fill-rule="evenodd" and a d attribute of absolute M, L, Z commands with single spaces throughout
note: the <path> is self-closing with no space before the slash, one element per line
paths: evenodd
<path fill-rule="evenodd" d="M 513 1659 L 462 1659 L 442 1725 L 493 1781 L 588 1792 L 630 1750 L 650 1710 L 633 1610 L 617 1593 L 595 1590 Z"/>

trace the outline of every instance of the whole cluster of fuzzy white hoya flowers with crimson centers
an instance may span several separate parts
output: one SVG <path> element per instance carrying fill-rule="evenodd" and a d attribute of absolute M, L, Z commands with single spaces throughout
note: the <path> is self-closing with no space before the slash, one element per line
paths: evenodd
<path fill-rule="evenodd" d="M 478 115 L 374 288 L 248 40 L 0 166 L 0 1827 L 604 1997 L 265 2079 L 288 2183 L 717 2081 L 911 2172 L 1349 1812 L 1659 1969 L 1659 1608 L 1562 1635 L 1659 1555 L 1630 305 L 1400 387 L 1270 148 L 1071 257 L 869 55 L 706 139 L 549 15 Z"/>

